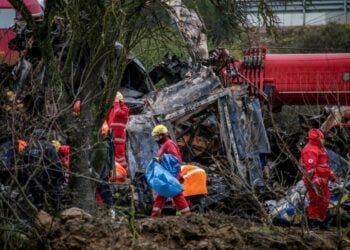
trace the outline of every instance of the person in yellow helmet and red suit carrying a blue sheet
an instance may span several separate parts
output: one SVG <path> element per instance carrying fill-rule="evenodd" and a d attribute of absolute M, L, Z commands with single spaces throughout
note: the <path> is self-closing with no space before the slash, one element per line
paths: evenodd
<path fill-rule="evenodd" d="M 160 148 L 157 153 L 157 158 L 160 159 L 163 154 L 172 154 L 175 156 L 180 164 L 182 162 L 181 159 L 181 153 L 174 141 L 172 141 L 168 135 L 168 129 L 160 124 L 154 127 L 152 131 L 152 136 L 154 140 L 159 144 Z M 156 195 L 153 209 L 152 209 L 152 214 L 151 217 L 157 217 L 160 216 L 161 210 L 164 207 L 167 197 L 160 196 L 159 194 Z M 188 203 L 183 195 L 183 193 L 175 196 L 172 198 L 176 207 L 179 209 L 179 211 L 182 214 L 189 214 L 191 213 L 190 208 L 188 206 Z"/>

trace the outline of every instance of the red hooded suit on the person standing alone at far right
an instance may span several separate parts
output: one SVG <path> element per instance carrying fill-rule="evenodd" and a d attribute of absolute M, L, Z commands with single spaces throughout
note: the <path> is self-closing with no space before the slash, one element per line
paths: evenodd
<path fill-rule="evenodd" d="M 319 129 L 310 129 L 309 142 L 301 151 L 301 164 L 304 168 L 303 181 L 309 195 L 308 216 L 310 219 L 325 220 L 330 193 L 328 181 L 335 180 L 328 154 L 321 143 L 324 138 Z"/>

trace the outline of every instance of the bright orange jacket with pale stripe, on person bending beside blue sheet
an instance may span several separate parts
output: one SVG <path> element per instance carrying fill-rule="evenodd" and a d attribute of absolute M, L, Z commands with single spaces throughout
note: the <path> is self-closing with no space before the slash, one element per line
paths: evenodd
<path fill-rule="evenodd" d="M 194 165 L 183 165 L 180 176 L 183 179 L 185 197 L 208 194 L 207 174 L 204 169 Z"/>

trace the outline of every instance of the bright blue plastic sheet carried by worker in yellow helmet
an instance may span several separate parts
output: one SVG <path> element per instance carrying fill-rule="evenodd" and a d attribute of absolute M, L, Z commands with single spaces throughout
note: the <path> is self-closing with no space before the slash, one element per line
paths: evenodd
<path fill-rule="evenodd" d="M 146 179 L 152 189 L 164 197 L 172 198 L 184 191 L 180 182 L 155 159 L 147 165 Z"/>

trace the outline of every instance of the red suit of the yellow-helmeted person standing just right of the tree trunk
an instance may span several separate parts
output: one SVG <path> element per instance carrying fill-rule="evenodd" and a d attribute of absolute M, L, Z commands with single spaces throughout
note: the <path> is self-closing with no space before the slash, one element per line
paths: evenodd
<path fill-rule="evenodd" d="M 125 159 L 126 123 L 129 118 L 129 108 L 124 102 L 115 101 L 107 115 L 107 124 L 114 132 L 114 154 L 115 160 L 127 169 Z"/>

